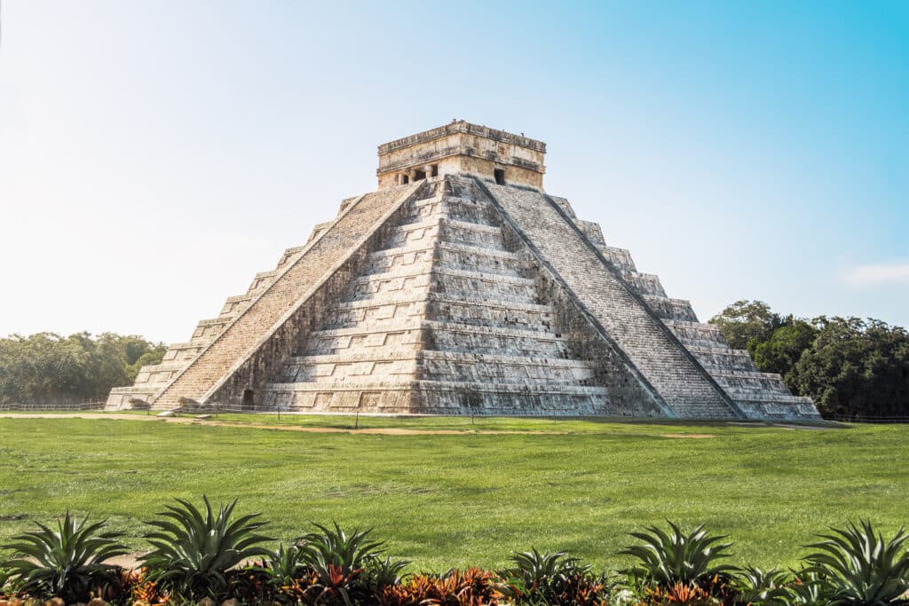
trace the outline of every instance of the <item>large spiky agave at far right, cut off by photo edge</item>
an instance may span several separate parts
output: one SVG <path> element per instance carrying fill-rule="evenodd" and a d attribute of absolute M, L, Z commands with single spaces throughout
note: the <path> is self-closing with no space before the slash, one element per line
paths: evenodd
<path fill-rule="evenodd" d="M 871 522 L 859 524 L 818 535 L 824 541 L 808 545 L 819 551 L 804 557 L 809 564 L 805 570 L 817 574 L 831 604 L 889 604 L 909 591 L 909 553 L 903 547 L 909 534 L 901 528 L 884 541 Z"/>

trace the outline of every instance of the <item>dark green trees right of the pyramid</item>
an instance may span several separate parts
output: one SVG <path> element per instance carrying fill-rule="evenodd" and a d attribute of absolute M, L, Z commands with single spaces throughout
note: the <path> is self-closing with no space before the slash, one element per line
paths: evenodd
<path fill-rule="evenodd" d="M 783 316 L 762 301 L 736 301 L 715 315 L 734 349 L 764 373 L 783 375 L 825 418 L 909 418 L 909 333 L 880 320 Z"/>

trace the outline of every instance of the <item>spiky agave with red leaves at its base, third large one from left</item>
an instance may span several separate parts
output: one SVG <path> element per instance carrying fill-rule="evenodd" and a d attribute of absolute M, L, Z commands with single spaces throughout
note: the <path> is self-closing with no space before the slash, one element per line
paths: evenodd
<path fill-rule="evenodd" d="M 346 606 L 354 602 L 355 591 L 365 591 L 361 575 L 365 566 L 378 557 L 381 541 L 369 539 L 372 529 L 354 530 L 349 534 L 338 526 L 330 529 L 320 524 L 318 529 L 300 538 L 300 561 L 315 572 L 317 581 L 312 591 L 315 601 L 340 599 Z"/>

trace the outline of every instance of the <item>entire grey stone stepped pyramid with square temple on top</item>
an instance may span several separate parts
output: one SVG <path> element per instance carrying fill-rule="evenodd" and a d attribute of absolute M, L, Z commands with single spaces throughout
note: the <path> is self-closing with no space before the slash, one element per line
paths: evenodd
<path fill-rule="evenodd" d="M 376 192 L 108 409 L 820 418 L 546 194 L 544 154 L 460 121 L 381 145 Z"/>

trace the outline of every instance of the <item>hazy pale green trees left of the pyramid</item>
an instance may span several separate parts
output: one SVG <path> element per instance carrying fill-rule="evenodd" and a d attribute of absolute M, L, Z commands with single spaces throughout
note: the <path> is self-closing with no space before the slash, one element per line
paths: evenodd
<path fill-rule="evenodd" d="M 166 349 L 116 333 L 13 334 L 0 339 L 0 404 L 99 402 L 145 364 L 160 363 Z"/>

